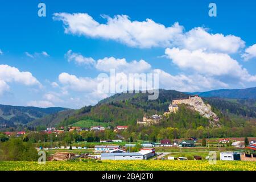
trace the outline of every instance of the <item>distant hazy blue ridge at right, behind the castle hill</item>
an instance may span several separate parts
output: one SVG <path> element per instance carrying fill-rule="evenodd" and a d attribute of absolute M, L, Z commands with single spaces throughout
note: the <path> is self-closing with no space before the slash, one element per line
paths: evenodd
<path fill-rule="evenodd" d="M 195 92 L 189 94 L 198 94 L 201 97 L 220 97 L 220 98 L 239 98 L 239 99 L 255 99 L 256 87 L 247 89 L 220 89 L 208 92 Z"/>

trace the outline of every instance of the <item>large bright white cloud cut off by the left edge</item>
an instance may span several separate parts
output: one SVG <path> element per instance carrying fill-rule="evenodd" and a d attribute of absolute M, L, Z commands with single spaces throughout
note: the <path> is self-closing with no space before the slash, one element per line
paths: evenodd
<path fill-rule="evenodd" d="M 0 93 L 9 90 L 9 82 L 18 82 L 27 86 L 42 86 L 40 82 L 32 76 L 30 72 L 20 72 L 19 69 L 15 67 L 10 67 L 9 65 L 0 65 Z"/>

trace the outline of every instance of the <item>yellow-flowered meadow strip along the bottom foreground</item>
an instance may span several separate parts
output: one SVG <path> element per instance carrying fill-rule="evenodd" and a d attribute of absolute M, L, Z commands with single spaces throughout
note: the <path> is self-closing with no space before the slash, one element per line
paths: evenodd
<path fill-rule="evenodd" d="M 0 162 L 1 171 L 255 171 L 255 162 L 198 160 L 113 160 L 85 162 Z"/>

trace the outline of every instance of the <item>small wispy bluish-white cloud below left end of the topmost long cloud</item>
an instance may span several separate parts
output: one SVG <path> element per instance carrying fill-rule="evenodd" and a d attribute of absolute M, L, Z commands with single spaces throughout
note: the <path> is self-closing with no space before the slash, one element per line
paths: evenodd
<path fill-rule="evenodd" d="M 82 65 L 90 65 L 94 64 L 95 60 L 92 59 L 92 57 L 84 57 L 80 53 L 75 53 L 72 52 L 72 50 L 69 50 L 66 54 L 65 57 L 67 57 L 68 61 L 75 61 L 76 64 Z"/>

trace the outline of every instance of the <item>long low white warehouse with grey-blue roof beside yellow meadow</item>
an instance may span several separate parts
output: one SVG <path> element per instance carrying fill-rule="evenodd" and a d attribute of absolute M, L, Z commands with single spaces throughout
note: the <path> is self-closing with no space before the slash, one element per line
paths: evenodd
<path fill-rule="evenodd" d="M 103 153 L 101 160 L 146 160 L 155 155 L 155 148 L 142 148 L 139 152 Z"/>

